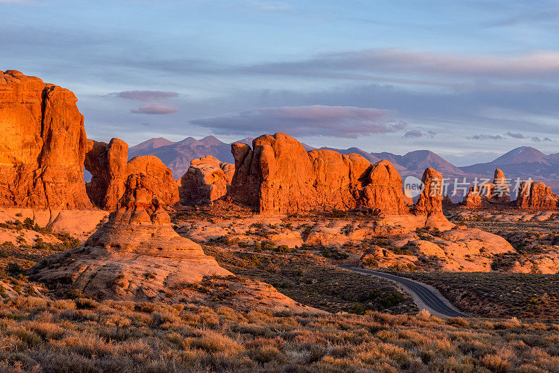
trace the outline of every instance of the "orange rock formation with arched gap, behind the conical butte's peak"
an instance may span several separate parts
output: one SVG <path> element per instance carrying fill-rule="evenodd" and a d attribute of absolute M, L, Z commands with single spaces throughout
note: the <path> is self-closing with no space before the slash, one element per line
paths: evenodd
<path fill-rule="evenodd" d="M 116 210 L 124 195 L 125 184 L 131 177 L 143 176 L 144 188 L 157 197 L 164 206 L 173 206 L 179 200 L 173 172 L 156 156 L 136 156 L 128 159 L 128 145 L 113 138 L 106 142 L 91 142 L 85 156 L 85 168 L 92 174 L 87 183 L 87 194 L 92 202 L 105 210 Z"/>

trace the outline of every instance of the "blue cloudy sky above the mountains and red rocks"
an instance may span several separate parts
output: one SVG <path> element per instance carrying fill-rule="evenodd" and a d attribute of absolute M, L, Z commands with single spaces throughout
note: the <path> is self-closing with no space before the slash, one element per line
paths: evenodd
<path fill-rule="evenodd" d="M 0 70 L 89 138 L 285 132 L 456 166 L 559 141 L 557 1 L 0 0 Z"/>

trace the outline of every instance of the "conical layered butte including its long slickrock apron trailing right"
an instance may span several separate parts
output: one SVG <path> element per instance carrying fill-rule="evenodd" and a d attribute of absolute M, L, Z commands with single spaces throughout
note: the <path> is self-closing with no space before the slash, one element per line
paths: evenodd
<path fill-rule="evenodd" d="M 151 177 L 129 175 L 122 207 L 108 222 L 82 246 L 35 265 L 29 270 L 31 277 L 55 293 L 79 291 L 99 300 L 189 301 L 323 313 L 273 286 L 235 277 L 220 267 L 199 244 L 175 233 L 151 186 Z"/>

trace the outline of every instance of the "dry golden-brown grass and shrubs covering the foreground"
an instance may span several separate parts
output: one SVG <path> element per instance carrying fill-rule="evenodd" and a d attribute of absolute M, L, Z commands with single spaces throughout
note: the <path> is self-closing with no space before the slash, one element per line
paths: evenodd
<path fill-rule="evenodd" d="M 556 325 L 20 297 L 0 372 L 557 372 Z M 150 307 L 147 307 L 149 305 Z"/>

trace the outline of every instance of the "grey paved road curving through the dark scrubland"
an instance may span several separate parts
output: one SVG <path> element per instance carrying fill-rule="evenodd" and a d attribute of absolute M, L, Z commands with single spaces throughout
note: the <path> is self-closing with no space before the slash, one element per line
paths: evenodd
<path fill-rule="evenodd" d="M 405 277 L 390 275 L 389 273 L 365 270 L 363 268 L 358 268 L 355 265 L 340 265 L 339 267 L 343 268 L 344 270 L 359 272 L 365 275 L 373 275 L 398 282 L 399 284 L 405 286 L 405 288 L 407 288 L 409 291 L 412 291 L 412 293 L 414 293 L 421 300 L 421 302 L 423 302 L 428 308 L 430 308 L 428 310 L 431 313 L 433 313 L 434 311 L 437 314 L 447 317 L 470 317 L 466 314 L 463 314 L 462 312 L 457 311 L 456 309 L 453 309 L 452 307 L 449 307 L 449 305 L 447 305 L 447 303 L 445 302 L 446 299 L 443 298 L 442 295 L 433 293 L 433 291 L 431 291 L 427 286 L 420 284 L 419 282 L 412 281 L 411 279 L 407 279 Z M 448 300 L 446 301 L 448 302 Z"/>

